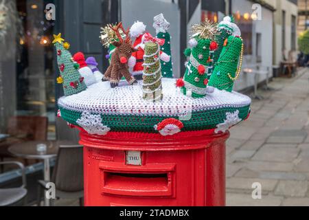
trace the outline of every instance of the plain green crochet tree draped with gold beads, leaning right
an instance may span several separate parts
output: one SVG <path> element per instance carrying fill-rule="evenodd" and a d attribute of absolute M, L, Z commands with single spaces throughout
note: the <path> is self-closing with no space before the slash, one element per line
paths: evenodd
<path fill-rule="evenodd" d="M 209 86 L 220 90 L 232 91 L 234 81 L 240 74 L 244 45 L 239 36 L 229 36 L 223 45 L 218 63 L 211 74 Z M 239 57 L 240 67 L 238 68 Z"/>

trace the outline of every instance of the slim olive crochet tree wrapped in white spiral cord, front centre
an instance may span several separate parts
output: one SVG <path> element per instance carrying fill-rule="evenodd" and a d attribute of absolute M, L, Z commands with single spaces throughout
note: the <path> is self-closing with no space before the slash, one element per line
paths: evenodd
<path fill-rule="evenodd" d="M 162 100 L 161 63 L 159 44 L 147 42 L 144 54 L 143 98 L 151 101 Z"/>

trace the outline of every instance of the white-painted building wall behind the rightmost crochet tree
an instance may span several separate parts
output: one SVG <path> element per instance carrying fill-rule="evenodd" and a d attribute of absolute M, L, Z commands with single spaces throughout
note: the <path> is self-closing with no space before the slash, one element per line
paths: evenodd
<path fill-rule="evenodd" d="M 253 12 L 252 10 L 252 1 L 247 0 L 233 0 L 232 1 L 232 12 L 236 13 L 237 11 L 240 14 Z M 241 31 L 241 30 L 240 30 Z M 261 42 L 262 42 L 262 62 L 258 63 L 261 69 L 266 69 L 266 67 L 271 67 L 273 64 L 273 12 L 266 8 L 262 8 L 262 20 L 253 21 L 252 28 L 252 55 L 246 55 L 243 58 L 242 69 L 246 67 L 252 67 L 253 65 L 257 65 L 255 52 L 256 52 L 256 34 L 261 34 Z M 272 72 L 271 72 L 272 74 Z M 259 82 L 265 80 L 266 77 L 260 77 Z M 247 87 L 254 85 L 254 77 L 251 74 L 244 74 L 243 72 L 240 74 L 240 78 L 236 80 L 234 84 L 234 90 L 238 91 L 241 89 L 245 89 Z"/>

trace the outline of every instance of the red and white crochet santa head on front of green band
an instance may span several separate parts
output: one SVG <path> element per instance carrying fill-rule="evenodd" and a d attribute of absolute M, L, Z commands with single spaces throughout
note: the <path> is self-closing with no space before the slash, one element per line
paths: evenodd
<path fill-rule="evenodd" d="M 168 118 L 159 124 L 156 124 L 154 127 L 155 130 L 159 131 L 159 133 L 161 133 L 163 136 L 174 135 L 181 132 L 181 129 L 183 128 L 183 122 L 174 118 Z"/>

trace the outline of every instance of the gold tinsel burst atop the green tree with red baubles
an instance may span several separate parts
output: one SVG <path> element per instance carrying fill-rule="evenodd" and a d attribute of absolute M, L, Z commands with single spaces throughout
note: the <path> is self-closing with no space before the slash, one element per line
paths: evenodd
<path fill-rule="evenodd" d="M 198 36 L 201 39 L 215 41 L 218 35 L 220 32 L 217 30 L 216 23 L 212 23 L 208 19 L 200 24 L 192 25 L 192 37 Z"/>

